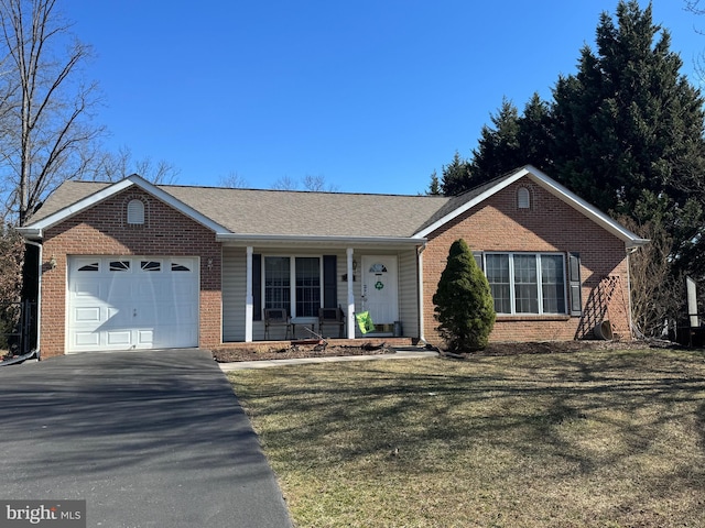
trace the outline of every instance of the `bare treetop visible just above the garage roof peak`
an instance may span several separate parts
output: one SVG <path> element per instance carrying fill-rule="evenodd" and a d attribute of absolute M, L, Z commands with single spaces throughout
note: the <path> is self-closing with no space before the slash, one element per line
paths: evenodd
<path fill-rule="evenodd" d="M 171 163 L 160 160 L 154 162 L 151 157 L 133 160 L 132 151 L 122 146 L 118 152 L 108 152 L 91 163 L 90 170 L 84 177 L 96 182 L 119 182 L 126 176 L 137 174 L 156 185 L 175 184 L 180 170 Z"/>

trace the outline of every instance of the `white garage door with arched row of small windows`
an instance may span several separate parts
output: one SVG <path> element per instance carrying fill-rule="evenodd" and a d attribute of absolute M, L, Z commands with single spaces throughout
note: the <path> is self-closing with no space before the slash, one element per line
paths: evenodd
<path fill-rule="evenodd" d="M 69 258 L 69 352 L 197 344 L 197 258 Z"/>

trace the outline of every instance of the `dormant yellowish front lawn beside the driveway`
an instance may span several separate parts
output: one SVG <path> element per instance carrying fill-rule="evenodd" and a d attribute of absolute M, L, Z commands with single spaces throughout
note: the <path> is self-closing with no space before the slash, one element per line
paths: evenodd
<path fill-rule="evenodd" d="M 705 526 L 705 354 L 229 374 L 299 527 Z"/>

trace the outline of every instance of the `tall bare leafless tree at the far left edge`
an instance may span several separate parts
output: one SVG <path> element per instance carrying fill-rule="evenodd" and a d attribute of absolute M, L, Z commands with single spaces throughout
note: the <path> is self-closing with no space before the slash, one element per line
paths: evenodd
<path fill-rule="evenodd" d="M 97 85 L 83 84 L 90 48 L 70 33 L 56 0 L 0 0 L 0 45 L 8 54 L 0 94 L 8 95 L 0 155 L 6 205 L 20 226 L 65 179 L 86 170 Z M 66 46 L 61 50 L 61 46 Z"/>

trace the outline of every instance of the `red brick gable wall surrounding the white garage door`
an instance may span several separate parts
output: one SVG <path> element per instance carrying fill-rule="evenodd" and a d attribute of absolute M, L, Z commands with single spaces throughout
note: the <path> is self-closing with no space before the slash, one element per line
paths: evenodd
<path fill-rule="evenodd" d="M 128 226 L 127 204 L 145 204 L 143 226 Z M 215 233 L 141 189 L 127 189 L 46 230 L 43 242 L 41 353 L 65 352 L 66 282 L 69 255 L 200 257 L 199 345 L 221 342 L 220 244 Z M 56 268 L 48 261 L 56 258 Z M 213 266 L 208 268 L 208 260 Z"/>

